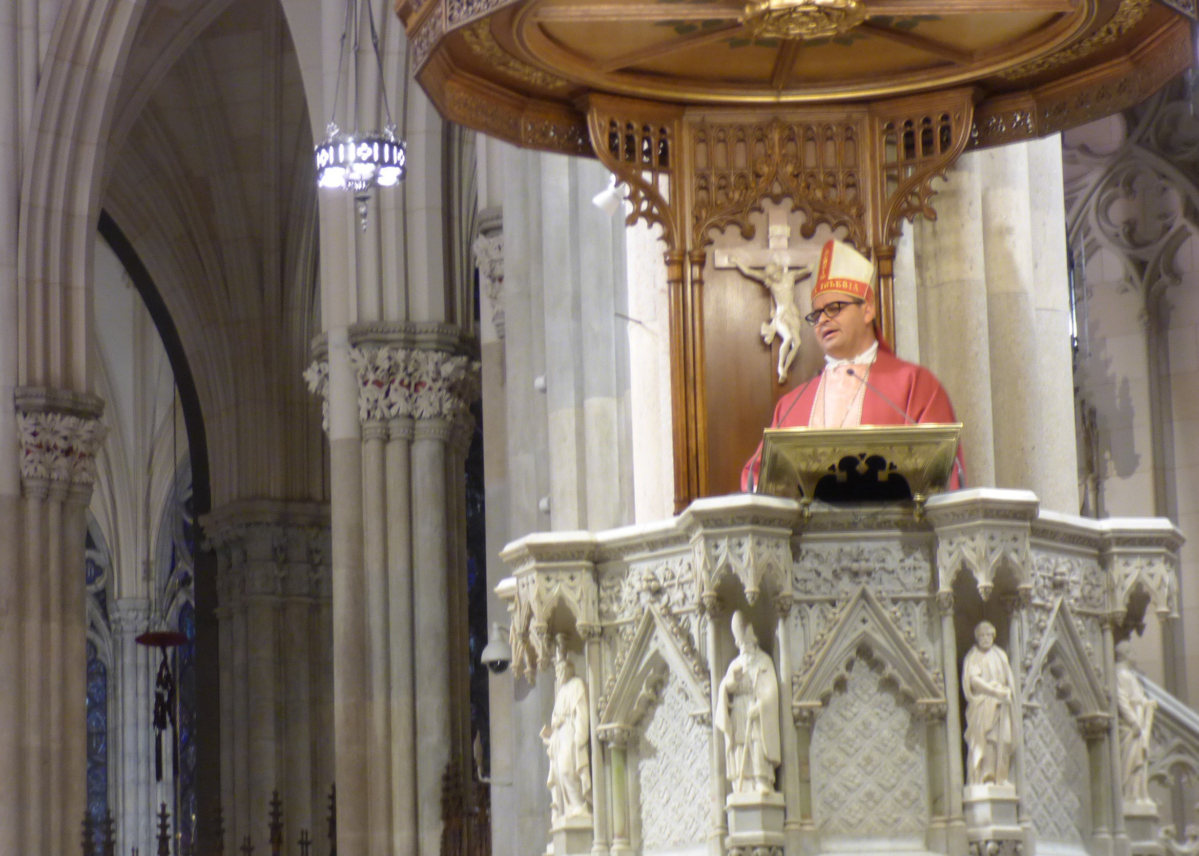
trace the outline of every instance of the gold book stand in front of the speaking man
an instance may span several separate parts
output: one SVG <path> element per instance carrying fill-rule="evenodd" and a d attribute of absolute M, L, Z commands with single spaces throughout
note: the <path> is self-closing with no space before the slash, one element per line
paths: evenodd
<path fill-rule="evenodd" d="M 962 423 L 927 422 L 858 428 L 767 428 L 755 490 L 839 502 L 924 500 L 953 475 Z"/>

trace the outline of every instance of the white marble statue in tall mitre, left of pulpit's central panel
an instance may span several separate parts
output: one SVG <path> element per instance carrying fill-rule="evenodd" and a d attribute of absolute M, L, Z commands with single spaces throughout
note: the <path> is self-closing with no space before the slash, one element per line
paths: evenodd
<path fill-rule="evenodd" d="M 735 792 L 775 790 L 783 762 L 778 727 L 778 677 L 745 613 L 733 615 L 737 653 L 717 693 L 716 728 L 724 735 L 724 771 Z"/>

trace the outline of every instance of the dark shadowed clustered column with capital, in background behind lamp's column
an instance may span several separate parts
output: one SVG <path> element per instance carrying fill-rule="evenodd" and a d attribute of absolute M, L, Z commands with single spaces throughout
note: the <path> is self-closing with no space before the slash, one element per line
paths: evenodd
<path fill-rule="evenodd" d="M 225 852 L 324 822 L 333 783 L 329 507 L 248 500 L 203 518 L 217 554 Z"/>

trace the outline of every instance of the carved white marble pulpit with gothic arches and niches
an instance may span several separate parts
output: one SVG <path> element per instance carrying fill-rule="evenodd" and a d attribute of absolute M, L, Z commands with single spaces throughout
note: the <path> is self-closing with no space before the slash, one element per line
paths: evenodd
<path fill-rule="evenodd" d="M 934 496 L 918 518 L 731 495 L 522 538 L 498 587 L 516 680 L 554 681 L 568 659 L 590 729 L 585 804 L 547 816 L 536 846 L 1161 852 L 1152 806 L 1123 803 L 1114 651 L 1145 610 L 1176 610 L 1180 542 L 1165 520 L 996 489 Z M 982 625 L 1010 663 L 1011 746 L 1005 780 L 972 784 L 962 667 Z"/>

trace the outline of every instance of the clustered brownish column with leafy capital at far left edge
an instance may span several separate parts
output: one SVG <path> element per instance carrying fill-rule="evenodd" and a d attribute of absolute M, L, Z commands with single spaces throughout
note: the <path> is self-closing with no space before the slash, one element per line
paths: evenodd
<path fill-rule="evenodd" d="M 20 387 L 14 403 L 22 507 L 0 544 L 0 850 L 60 854 L 86 806 L 84 535 L 103 402 Z"/>

